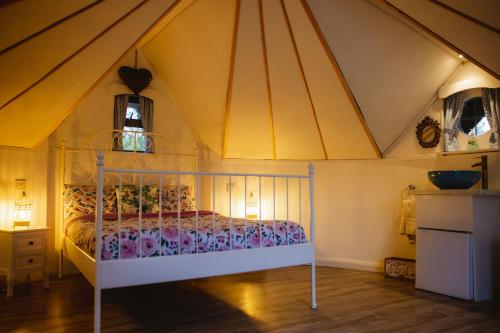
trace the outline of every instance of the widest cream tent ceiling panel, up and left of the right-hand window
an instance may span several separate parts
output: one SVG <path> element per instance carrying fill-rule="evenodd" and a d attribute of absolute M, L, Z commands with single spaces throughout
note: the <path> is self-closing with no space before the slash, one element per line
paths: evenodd
<path fill-rule="evenodd" d="M 308 1 L 378 146 L 385 150 L 458 65 L 366 1 Z"/>

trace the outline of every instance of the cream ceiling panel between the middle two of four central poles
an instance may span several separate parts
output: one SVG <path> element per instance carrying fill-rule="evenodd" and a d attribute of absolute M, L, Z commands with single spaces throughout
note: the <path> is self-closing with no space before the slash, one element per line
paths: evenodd
<path fill-rule="evenodd" d="M 263 1 L 278 159 L 326 158 L 314 110 L 279 1 Z"/>

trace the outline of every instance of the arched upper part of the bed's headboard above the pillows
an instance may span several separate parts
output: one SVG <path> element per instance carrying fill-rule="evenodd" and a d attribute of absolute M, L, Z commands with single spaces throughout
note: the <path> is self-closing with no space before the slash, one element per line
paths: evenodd
<path fill-rule="evenodd" d="M 125 151 L 124 142 L 129 143 Z M 100 130 L 88 135 L 81 144 L 70 146 L 64 141 L 59 144 L 63 184 L 95 184 L 95 156 L 98 152 L 104 153 L 108 168 L 198 171 L 201 145 L 186 149 L 165 134 Z M 106 185 L 118 184 L 118 179 L 110 175 L 104 181 Z M 122 182 L 137 185 L 137 179 L 133 175 L 130 179 L 122 179 Z M 144 182 L 147 184 L 155 181 L 144 179 Z M 183 179 L 183 184 L 193 185 L 190 179 Z"/>

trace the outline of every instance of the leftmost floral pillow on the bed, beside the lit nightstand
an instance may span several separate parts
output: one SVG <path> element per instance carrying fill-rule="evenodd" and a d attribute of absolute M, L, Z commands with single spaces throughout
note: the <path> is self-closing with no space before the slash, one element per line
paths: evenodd
<path fill-rule="evenodd" d="M 116 191 L 112 187 L 104 187 L 103 212 L 115 213 Z M 96 207 L 95 185 L 65 185 L 64 186 L 64 218 L 79 215 L 94 214 Z"/>

